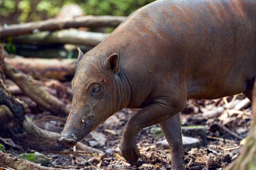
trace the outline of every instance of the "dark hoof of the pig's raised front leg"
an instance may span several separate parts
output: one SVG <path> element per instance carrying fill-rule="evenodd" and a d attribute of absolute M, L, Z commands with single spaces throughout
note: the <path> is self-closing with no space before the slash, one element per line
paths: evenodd
<path fill-rule="evenodd" d="M 129 163 L 131 163 L 133 166 L 139 166 L 139 163 L 137 162 L 138 159 L 141 157 L 141 154 L 139 153 L 139 150 L 137 147 L 131 149 L 131 148 L 126 148 L 122 150 L 122 155 L 124 158 L 126 158 Z"/>

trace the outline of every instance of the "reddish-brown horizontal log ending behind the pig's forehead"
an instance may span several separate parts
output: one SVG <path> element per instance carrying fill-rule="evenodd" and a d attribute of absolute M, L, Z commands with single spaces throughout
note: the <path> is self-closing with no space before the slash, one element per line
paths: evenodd
<path fill-rule="evenodd" d="M 36 79 L 42 77 L 69 81 L 74 77 L 77 59 L 5 58 L 5 62 Z"/>

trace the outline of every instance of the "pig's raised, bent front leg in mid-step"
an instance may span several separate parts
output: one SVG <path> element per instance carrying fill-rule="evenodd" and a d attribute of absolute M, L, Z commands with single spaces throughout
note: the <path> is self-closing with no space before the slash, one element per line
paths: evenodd
<path fill-rule="evenodd" d="M 135 141 L 138 132 L 148 126 L 159 124 L 182 111 L 186 105 L 186 97 L 178 99 L 176 101 L 173 99 L 157 100 L 129 119 L 121 139 L 121 152 L 133 165 L 136 165 L 137 159 L 141 156 Z"/>

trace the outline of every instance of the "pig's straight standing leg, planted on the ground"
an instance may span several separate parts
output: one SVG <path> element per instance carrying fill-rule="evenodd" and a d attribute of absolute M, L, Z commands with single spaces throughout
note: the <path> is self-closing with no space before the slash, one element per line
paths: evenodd
<path fill-rule="evenodd" d="M 172 170 L 184 170 L 184 152 L 180 127 L 180 114 L 159 124 L 171 149 Z"/>

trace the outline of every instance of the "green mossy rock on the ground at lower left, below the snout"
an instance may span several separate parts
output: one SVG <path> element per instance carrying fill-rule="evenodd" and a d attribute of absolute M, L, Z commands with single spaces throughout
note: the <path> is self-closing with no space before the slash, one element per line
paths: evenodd
<path fill-rule="evenodd" d="M 21 159 L 26 159 L 28 161 L 40 164 L 41 166 L 48 166 L 49 161 L 47 157 L 41 153 L 34 152 L 34 153 L 22 153 L 20 154 Z"/>

